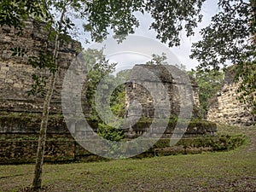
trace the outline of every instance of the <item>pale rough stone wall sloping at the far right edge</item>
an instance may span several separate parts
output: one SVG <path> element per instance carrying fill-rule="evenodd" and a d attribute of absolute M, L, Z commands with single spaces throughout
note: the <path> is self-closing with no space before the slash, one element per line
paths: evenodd
<path fill-rule="evenodd" d="M 217 96 L 209 102 L 207 120 L 226 125 L 252 125 L 253 116 L 249 108 L 237 99 L 239 84 L 234 82 L 234 67 L 225 73 L 224 83 Z"/>

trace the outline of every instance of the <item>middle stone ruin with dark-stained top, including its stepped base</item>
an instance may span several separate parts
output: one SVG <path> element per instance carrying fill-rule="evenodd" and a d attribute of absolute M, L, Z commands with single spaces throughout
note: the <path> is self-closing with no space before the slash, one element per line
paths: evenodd
<path fill-rule="evenodd" d="M 176 67 L 173 67 L 172 70 L 172 73 L 179 71 Z M 177 78 L 181 77 L 182 74 L 177 76 Z M 188 82 L 186 83 L 183 83 L 184 79 L 173 78 L 165 66 L 136 65 L 133 67 L 129 78 L 130 83 L 125 84 L 125 116 L 129 119 L 125 122 L 126 137 L 139 137 L 148 131 L 149 126 L 151 135 L 158 134 L 158 130 L 163 128 L 166 131 L 162 137 L 172 137 L 179 114 L 189 113 L 189 108 L 192 119 L 197 119 L 200 107 L 198 86 L 193 79 L 187 78 Z M 181 94 L 186 96 L 182 97 Z M 168 99 L 166 100 L 166 98 Z M 183 103 L 183 111 L 180 108 L 181 103 Z M 156 112 L 156 104 L 160 106 L 158 112 Z M 167 125 L 165 118 L 160 117 L 165 114 L 170 114 Z M 156 123 L 151 126 L 153 119 L 156 119 Z M 185 123 L 183 123 L 183 128 L 186 128 Z M 192 121 L 185 131 L 185 137 L 213 135 L 216 131 L 214 124 Z M 181 129 L 178 134 L 183 134 L 183 130 Z"/>

